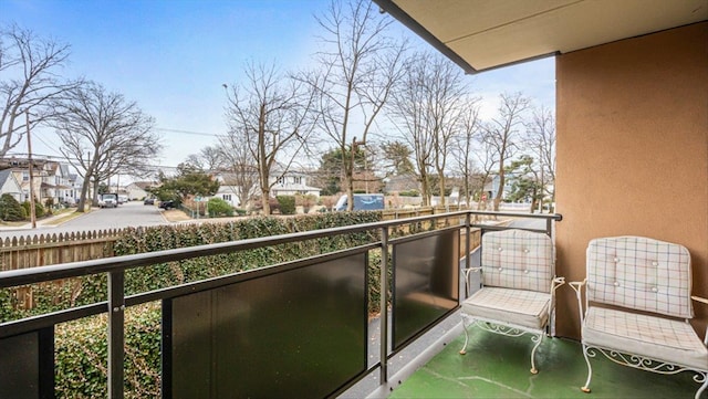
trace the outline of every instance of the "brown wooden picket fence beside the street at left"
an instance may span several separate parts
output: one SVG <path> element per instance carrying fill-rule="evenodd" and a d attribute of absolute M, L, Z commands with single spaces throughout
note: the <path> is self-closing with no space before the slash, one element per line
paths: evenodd
<path fill-rule="evenodd" d="M 14 237 L 0 241 L 0 271 L 113 256 L 124 229 Z"/>

